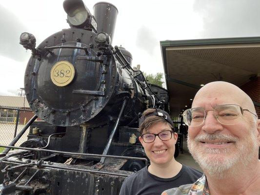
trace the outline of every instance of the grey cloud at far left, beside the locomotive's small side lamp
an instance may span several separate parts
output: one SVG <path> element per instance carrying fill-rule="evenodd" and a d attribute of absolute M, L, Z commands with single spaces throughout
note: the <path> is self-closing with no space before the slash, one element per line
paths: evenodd
<path fill-rule="evenodd" d="M 0 5 L 0 55 L 16 61 L 26 59 L 25 49 L 19 44 L 20 34 L 26 31 L 22 21 Z"/>

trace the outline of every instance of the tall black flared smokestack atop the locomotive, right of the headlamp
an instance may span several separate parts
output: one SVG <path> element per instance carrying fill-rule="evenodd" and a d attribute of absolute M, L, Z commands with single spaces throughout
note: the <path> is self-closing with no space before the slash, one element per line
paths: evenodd
<path fill-rule="evenodd" d="M 98 2 L 94 5 L 94 16 L 98 23 L 98 32 L 107 33 L 113 41 L 118 9 L 108 2 Z"/>

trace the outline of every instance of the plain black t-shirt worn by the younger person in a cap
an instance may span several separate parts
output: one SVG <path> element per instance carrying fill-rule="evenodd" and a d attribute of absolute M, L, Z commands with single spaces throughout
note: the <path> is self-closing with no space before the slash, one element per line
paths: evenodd
<path fill-rule="evenodd" d="M 160 178 L 148 172 L 148 167 L 125 178 L 119 195 L 160 195 L 164 190 L 194 183 L 202 173 L 182 165 L 180 172 L 172 178 Z"/>

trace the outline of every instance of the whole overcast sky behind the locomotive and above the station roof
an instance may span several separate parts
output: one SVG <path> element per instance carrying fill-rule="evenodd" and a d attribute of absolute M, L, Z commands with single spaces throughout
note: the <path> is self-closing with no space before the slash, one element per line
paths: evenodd
<path fill-rule="evenodd" d="M 93 14 L 96 0 L 84 0 Z M 260 0 L 109 0 L 119 10 L 112 45 L 146 73 L 163 72 L 160 40 L 260 36 Z M 0 0 L 0 95 L 17 95 L 31 52 L 22 32 L 41 41 L 68 28 L 63 0 Z"/>

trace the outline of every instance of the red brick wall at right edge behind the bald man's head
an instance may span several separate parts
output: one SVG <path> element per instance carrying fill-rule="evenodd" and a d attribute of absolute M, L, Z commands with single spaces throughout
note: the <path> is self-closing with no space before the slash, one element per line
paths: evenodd
<path fill-rule="evenodd" d="M 254 101 L 260 103 L 260 77 L 251 80 L 240 88 Z M 260 106 L 255 105 L 258 118 L 260 118 Z"/>

